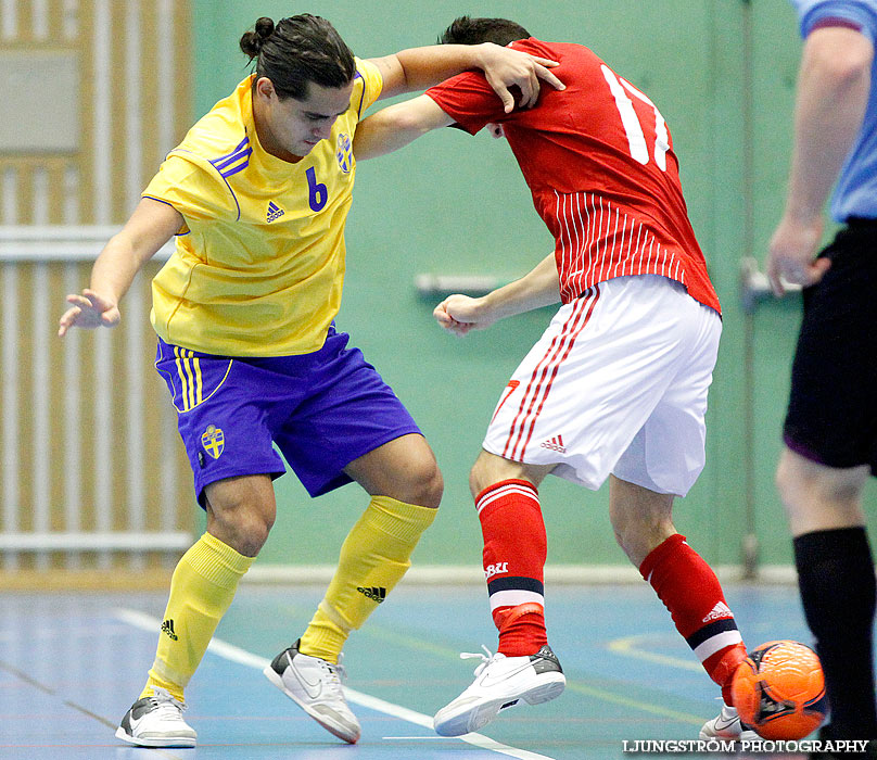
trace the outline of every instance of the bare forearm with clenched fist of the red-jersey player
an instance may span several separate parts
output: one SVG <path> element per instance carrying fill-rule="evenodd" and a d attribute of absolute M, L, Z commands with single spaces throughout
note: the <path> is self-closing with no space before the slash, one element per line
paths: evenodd
<path fill-rule="evenodd" d="M 483 330 L 495 321 L 560 301 L 560 277 L 555 254 L 543 258 L 520 280 L 497 288 L 480 299 L 456 293 L 433 311 L 441 327 L 455 335 Z"/>

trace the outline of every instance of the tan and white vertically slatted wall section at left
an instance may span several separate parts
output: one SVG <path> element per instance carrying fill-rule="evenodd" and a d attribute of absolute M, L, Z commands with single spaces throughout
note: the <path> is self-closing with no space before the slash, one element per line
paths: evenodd
<path fill-rule="evenodd" d="M 0 571 L 164 572 L 193 529 L 191 477 L 152 366 L 160 264 L 138 277 L 117 330 L 55 335 L 64 295 L 88 283 L 189 126 L 191 39 L 188 0 L 0 0 L 0 53 L 66 53 L 79 68 L 77 149 L 0 141 Z M 51 102 L 45 111 L 51 124 Z"/>

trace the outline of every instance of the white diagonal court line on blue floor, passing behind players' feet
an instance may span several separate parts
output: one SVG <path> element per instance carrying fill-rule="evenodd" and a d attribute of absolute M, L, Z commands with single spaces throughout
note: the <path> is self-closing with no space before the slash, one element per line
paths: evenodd
<path fill-rule="evenodd" d="M 161 620 L 132 609 L 115 609 L 113 610 L 113 615 L 116 619 L 122 620 L 134 628 L 140 629 L 141 631 L 149 631 L 150 633 L 158 631 L 162 624 Z M 241 649 L 240 647 L 229 644 L 228 642 L 224 642 L 219 638 L 214 638 L 209 643 L 207 646 L 207 651 L 212 651 L 214 655 L 217 655 L 231 662 L 237 662 L 238 664 L 246 666 L 247 668 L 255 668 L 257 670 L 265 670 L 265 668 L 271 663 L 271 661 L 265 657 L 254 655 L 251 651 L 246 651 L 246 649 Z M 408 723 L 414 723 L 415 725 L 419 725 L 432 731 L 432 718 L 430 715 L 424 715 L 422 712 L 409 710 L 407 707 L 402 707 L 402 705 L 394 705 L 393 702 L 379 699 L 378 697 L 372 697 L 370 694 L 364 694 L 363 692 L 357 692 L 353 688 L 347 688 L 346 686 L 344 687 L 344 696 L 347 697 L 347 700 L 352 701 L 354 705 L 367 707 L 370 710 L 383 712 L 386 715 L 392 715 L 393 718 L 398 718 L 407 721 Z M 416 738 L 444 737 L 419 736 Z M 537 752 L 531 752 L 526 749 L 509 747 L 508 745 L 501 744 L 500 742 L 495 742 L 483 734 L 471 733 L 465 734 L 463 736 L 458 736 L 457 738 L 459 738 L 461 742 L 474 745 L 475 747 L 481 747 L 482 749 L 499 752 L 500 755 L 507 755 L 511 758 L 518 758 L 518 760 L 552 760 L 547 755 L 538 755 Z"/>

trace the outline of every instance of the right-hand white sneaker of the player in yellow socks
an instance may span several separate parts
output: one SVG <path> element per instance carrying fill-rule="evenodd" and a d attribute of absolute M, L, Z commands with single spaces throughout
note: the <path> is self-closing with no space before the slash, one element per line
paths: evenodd
<path fill-rule="evenodd" d="M 343 668 L 298 651 L 301 638 L 284 649 L 263 672 L 268 681 L 329 733 L 349 744 L 359 738 L 359 721 L 341 688 Z"/>

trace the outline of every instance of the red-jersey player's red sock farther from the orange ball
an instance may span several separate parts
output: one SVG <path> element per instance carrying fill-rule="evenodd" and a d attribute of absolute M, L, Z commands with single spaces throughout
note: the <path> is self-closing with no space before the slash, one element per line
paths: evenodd
<path fill-rule="evenodd" d="M 507 657 L 533 655 L 548 643 L 543 580 L 547 541 L 538 492 L 529 481 L 504 480 L 482 491 L 475 508 L 498 649 Z"/>

